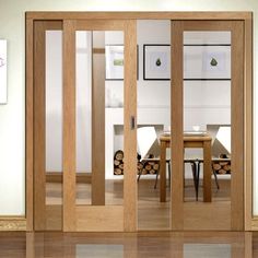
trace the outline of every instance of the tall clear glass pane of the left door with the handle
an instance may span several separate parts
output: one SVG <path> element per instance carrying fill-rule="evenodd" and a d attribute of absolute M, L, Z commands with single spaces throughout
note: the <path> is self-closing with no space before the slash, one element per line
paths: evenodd
<path fill-rule="evenodd" d="M 121 204 L 124 33 L 77 32 L 77 203 Z"/>

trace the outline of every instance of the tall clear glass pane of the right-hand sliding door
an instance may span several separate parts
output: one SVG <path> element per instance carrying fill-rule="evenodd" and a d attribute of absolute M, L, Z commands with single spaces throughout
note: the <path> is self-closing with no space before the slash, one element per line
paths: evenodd
<path fill-rule="evenodd" d="M 231 32 L 184 32 L 184 130 L 210 137 L 212 202 L 230 201 Z M 185 201 L 204 198 L 203 152 L 185 149 Z"/>

